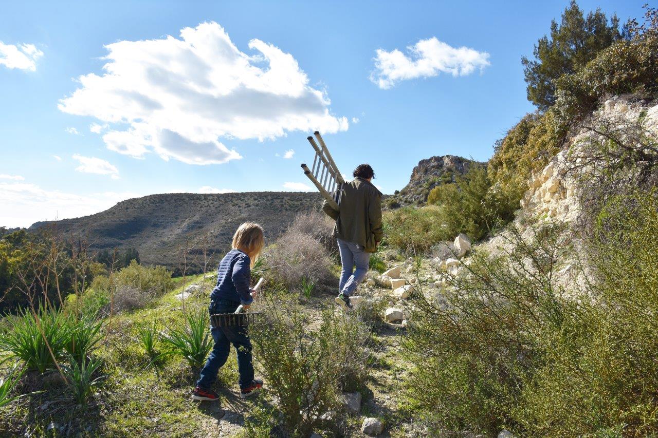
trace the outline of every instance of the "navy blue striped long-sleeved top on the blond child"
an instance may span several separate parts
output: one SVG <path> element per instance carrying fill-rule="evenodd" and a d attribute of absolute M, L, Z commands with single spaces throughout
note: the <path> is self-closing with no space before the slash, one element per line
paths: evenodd
<path fill-rule="evenodd" d="M 251 283 L 251 258 L 239 249 L 232 249 L 219 262 L 217 285 L 210 297 L 251 304 L 253 298 L 250 295 L 249 283 Z"/>

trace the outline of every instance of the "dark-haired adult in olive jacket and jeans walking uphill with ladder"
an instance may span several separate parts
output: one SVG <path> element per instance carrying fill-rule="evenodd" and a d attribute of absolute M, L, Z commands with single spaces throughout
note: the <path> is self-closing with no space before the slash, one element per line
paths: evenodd
<path fill-rule="evenodd" d="M 370 164 L 359 164 L 352 173 L 354 180 L 343 184 L 340 211 L 326 201 L 322 211 L 336 220 L 332 236 L 338 240 L 340 283 L 336 303 L 345 310 L 352 308 L 349 297 L 368 272 L 370 253 L 382 241 L 382 193 L 370 182 L 374 171 Z"/>

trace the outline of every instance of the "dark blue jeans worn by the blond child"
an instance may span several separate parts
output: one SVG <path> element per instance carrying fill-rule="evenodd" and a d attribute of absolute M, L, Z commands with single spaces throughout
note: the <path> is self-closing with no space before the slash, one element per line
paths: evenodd
<path fill-rule="evenodd" d="M 211 299 L 210 314 L 233 313 L 240 305 L 237 301 L 224 299 Z M 253 381 L 253 363 L 251 362 L 251 341 L 247 335 L 246 327 L 211 328 L 215 346 L 208 356 L 205 366 L 201 370 L 201 377 L 197 386 L 201 389 L 212 389 L 217 379 L 219 369 L 226 363 L 231 344 L 238 351 L 238 372 L 240 373 L 240 388 L 244 389 Z"/>

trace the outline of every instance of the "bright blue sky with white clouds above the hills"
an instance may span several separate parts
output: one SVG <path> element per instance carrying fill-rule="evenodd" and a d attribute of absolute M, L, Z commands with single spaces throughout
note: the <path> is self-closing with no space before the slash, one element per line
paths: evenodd
<path fill-rule="evenodd" d="M 643 3 L 579 5 L 624 21 Z M 5 2 L 0 225 L 152 193 L 302 189 L 316 128 L 344 174 L 368 162 L 384 193 L 422 158 L 487 160 L 534 110 L 520 57 L 566 5 Z"/>

